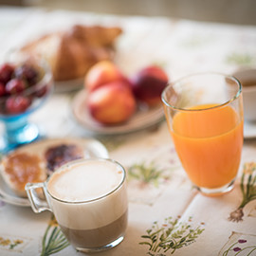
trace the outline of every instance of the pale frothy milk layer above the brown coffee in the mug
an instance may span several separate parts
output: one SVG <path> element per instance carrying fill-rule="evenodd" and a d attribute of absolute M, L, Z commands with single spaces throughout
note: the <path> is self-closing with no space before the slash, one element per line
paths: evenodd
<path fill-rule="evenodd" d="M 64 165 L 51 176 L 47 192 L 58 223 L 69 229 L 99 229 L 119 219 L 128 208 L 125 171 L 110 160 Z"/>

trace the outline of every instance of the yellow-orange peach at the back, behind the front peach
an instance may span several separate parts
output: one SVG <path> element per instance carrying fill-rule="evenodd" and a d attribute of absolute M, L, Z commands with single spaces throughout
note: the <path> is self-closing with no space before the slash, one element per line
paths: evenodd
<path fill-rule="evenodd" d="M 94 64 L 84 78 L 84 87 L 93 91 L 101 85 L 115 81 L 127 81 L 119 67 L 110 61 L 101 61 Z"/>

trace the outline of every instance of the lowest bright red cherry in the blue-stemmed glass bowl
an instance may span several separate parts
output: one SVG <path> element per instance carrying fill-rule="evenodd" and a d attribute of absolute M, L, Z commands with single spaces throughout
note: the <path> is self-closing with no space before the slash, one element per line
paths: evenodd
<path fill-rule="evenodd" d="M 31 101 L 22 95 L 11 96 L 6 101 L 6 110 L 9 114 L 20 114 L 27 110 Z"/>

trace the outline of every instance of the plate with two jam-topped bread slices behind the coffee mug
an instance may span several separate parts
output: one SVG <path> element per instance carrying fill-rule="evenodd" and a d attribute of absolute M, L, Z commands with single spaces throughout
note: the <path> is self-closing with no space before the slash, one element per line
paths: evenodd
<path fill-rule="evenodd" d="M 103 144 L 92 138 L 49 138 L 18 148 L 1 159 L 0 200 L 30 206 L 27 183 L 45 182 L 64 163 L 91 157 L 109 157 Z"/>

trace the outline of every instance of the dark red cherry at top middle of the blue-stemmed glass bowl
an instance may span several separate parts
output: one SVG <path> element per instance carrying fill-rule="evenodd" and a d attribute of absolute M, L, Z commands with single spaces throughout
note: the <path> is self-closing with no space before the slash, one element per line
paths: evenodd
<path fill-rule="evenodd" d="M 29 64 L 23 64 L 15 69 L 15 76 L 19 79 L 26 80 L 28 85 L 33 85 L 38 81 L 38 71 Z"/>

